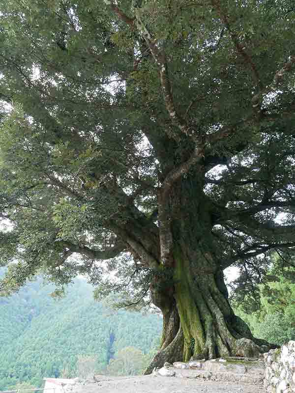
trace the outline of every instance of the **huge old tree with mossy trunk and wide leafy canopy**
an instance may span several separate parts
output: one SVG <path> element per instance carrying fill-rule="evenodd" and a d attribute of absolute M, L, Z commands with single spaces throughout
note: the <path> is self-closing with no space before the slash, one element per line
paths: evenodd
<path fill-rule="evenodd" d="M 151 367 L 265 351 L 223 270 L 248 290 L 295 247 L 294 1 L 8 0 L 0 22 L 2 292 L 149 293 Z"/>

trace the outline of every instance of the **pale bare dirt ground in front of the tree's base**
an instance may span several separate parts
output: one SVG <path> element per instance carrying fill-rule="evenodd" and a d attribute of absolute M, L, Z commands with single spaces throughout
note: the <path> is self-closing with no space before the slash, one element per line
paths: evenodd
<path fill-rule="evenodd" d="M 74 393 L 263 393 L 263 385 L 204 381 L 179 377 L 98 376 L 97 382 L 80 385 Z"/>

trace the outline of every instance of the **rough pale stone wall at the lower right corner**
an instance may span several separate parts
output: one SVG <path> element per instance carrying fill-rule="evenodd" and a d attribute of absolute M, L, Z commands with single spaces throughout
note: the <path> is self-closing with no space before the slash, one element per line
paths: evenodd
<path fill-rule="evenodd" d="M 267 393 L 295 392 L 295 341 L 264 354 Z"/>

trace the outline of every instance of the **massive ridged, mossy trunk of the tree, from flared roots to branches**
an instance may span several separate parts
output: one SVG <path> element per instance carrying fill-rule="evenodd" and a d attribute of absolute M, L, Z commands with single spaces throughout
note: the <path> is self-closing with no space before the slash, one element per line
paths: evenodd
<path fill-rule="evenodd" d="M 163 274 L 151 285 L 152 301 L 163 313 L 163 335 L 146 373 L 164 362 L 257 357 L 273 347 L 254 338 L 230 306 L 211 233 L 211 206 L 202 192 L 196 198 L 200 188 L 186 181 L 170 197 L 173 256 L 166 253 Z M 169 221 L 167 215 L 165 219 Z M 159 225 L 168 230 L 161 221 Z"/>

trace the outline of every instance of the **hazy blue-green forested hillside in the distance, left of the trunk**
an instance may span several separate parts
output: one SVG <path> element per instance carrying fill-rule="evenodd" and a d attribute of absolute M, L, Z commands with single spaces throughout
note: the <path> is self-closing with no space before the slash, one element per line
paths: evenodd
<path fill-rule="evenodd" d="M 154 314 L 107 309 L 93 288 L 77 280 L 67 296 L 52 299 L 39 279 L 10 298 L 0 298 L 0 390 L 35 387 L 43 377 L 76 376 L 77 356 L 97 356 L 96 369 L 132 346 L 147 354 L 159 342 L 162 320 Z M 115 338 L 112 344 L 113 338 Z"/>

